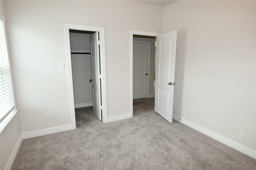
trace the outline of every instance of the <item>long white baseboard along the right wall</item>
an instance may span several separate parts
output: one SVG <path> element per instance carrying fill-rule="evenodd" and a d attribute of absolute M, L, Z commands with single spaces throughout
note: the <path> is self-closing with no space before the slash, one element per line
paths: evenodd
<path fill-rule="evenodd" d="M 207 136 L 214 138 L 215 140 L 218 140 L 219 142 L 226 144 L 226 145 L 230 146 L 231 148 L 234 148 L 234 149 L 256 159 L 256 150 L 248 148 L 247 146 L 244 146 L 238 142 L 235 142 L 234 140 L 230 140 L 229 138 L 226 138 L 218 133 L 212 132 L 211 130 L 208 130 L 207 128 L 201 127 L 201 126 L 199 126 L 195 123 L 192 123 L 186 119 L 178 117 L 177 115 L 173 114 L 173 119 L 184 124 L 184 125 L 187 125 L 188 127 L 191 127 L 193 129 L 197 130 L 198 132 L 206 134 Z"/>

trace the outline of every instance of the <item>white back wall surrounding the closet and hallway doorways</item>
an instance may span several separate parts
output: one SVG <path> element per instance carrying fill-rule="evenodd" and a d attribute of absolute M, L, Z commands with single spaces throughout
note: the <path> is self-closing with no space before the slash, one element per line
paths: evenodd
<path fill-rule="evenodd" d="M 130 30 L 162 32 L 162 7 L 134 1 L 4 4 L 22 132 L 71 124 L 68 72 L 58 68 L 67 61 L 64 23 L 105 28 L 107 116 L 131 112 L 130 67 L 124 67 Z"/>

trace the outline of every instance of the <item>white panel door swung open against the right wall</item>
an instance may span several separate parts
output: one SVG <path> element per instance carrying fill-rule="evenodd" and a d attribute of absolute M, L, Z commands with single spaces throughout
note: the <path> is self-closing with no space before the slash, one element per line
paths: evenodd
<path fill-rule="evenodd" d="M 177 30 L 156 38 L 155 111 L 172 123 Z"/>

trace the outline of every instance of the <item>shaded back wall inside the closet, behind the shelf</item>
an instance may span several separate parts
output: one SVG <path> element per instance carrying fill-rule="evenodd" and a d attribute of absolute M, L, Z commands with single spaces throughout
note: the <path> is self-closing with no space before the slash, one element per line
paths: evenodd
<path fill-rule="evenodd" d="M 90 34 L 70 32 L 70 49 L 90 51 Z M 90 54 L 71 54 L 75 107 L 92 105 Z"/>

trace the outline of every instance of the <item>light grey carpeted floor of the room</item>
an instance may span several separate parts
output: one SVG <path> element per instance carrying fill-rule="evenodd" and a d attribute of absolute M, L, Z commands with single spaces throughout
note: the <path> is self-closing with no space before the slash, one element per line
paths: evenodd
<path fill-rule="evenodd" d="M 120 111 L 122 111 L 120 109 Z M 13 170 L 255 170 L 256 160 L 134 100 L 134 117 L 102 123 L 76 109 L 77 128 L 25 139 Z"/>

